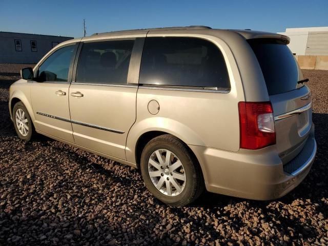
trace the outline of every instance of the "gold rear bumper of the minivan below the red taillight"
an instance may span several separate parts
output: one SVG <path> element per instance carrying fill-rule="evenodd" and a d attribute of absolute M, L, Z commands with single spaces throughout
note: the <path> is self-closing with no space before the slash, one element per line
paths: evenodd
<path fill-rule="evenodd" d="M 276 199 L 297 187 L 310 172 L 317 151 L 314 126 L 302 151 L 285 165 L 275 146 L 238 152 L 189 147 L 200 162 L 208 191 L 255 200 Z"/>

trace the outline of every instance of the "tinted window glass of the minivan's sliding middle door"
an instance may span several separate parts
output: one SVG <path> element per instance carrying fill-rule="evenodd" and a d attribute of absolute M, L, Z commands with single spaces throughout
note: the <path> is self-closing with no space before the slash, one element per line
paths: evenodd
<path fill-rule="evenodd" d="M 76 71 L 76 82 L 127 84 L 134 40 L 85 43 Z"/>

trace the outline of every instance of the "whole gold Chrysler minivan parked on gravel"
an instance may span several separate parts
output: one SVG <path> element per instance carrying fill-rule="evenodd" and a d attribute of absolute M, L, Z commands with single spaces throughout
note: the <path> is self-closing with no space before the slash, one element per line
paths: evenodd
<path fill-rule="evenodd" d="M 172 206 L 214 193 L 275 199 L 316 154 L 312 97 L 289 38 L 203 26 L 96 33 L 10 87 L 18 136 L 40 133 L 140 168 Z"/>

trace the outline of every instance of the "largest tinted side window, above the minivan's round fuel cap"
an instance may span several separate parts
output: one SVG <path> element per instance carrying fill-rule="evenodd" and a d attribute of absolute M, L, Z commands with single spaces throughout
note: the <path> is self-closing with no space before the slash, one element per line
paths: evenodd
<path fill-rule="evenodd" d="M 193 37 L 147 37 L 139 84 L 230 89 L 221 51 L 213 43 Z"/>

